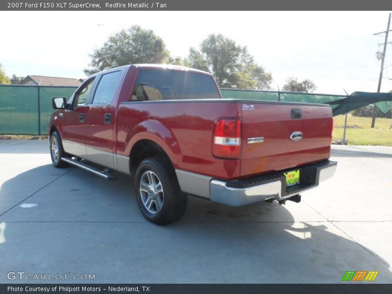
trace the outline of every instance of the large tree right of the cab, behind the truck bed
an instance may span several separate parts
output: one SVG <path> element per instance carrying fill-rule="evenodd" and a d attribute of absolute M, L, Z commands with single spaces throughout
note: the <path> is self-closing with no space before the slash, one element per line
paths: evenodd
<path fill-rule="evenodd" d="M 221 34 L 209 35 L 200 50 L 191 48 L 185 64 L 212 73 L 220 87 L 269 89 L 271 73 L 257 65 L 246 47 Z"/>

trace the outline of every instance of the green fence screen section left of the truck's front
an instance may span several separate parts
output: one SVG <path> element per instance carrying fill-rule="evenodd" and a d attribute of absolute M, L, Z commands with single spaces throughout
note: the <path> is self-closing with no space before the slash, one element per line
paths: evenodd
<path fill-rule="evenodd" d="M 52 97 L 70 97 L 75 87 L 0 85 L 0 134 L 48 133 Z"/>

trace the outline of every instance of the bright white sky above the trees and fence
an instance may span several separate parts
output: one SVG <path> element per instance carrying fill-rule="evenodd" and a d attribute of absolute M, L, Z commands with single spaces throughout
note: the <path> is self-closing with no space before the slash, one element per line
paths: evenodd
<path fill-rule="evenodd" d="M 172 56 L 186 57 L 209 34 L 247 46 L 272 73 L 271 88 L 309 78 L 317 93 L 376 92 L 389 12 L 0 11 L 0 63 L 9 76 L 84 78 L 89 54 L 131 25 L 152 29 Z M 7 29 L 9 28 L 9 29 Z M 392 41 L 392 32 L 389 41 Z M 392 90 L 387 45 L 382 92 Z"/>

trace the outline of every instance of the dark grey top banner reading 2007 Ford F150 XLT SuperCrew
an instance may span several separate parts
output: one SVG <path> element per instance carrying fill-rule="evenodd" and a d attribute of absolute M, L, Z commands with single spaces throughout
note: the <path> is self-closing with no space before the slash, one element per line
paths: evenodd
<path fill-rule="evenodd" d="M 181 10 L 392 10 L 390 0 L 1 0 L 0 10 L 181 11 Z"/>

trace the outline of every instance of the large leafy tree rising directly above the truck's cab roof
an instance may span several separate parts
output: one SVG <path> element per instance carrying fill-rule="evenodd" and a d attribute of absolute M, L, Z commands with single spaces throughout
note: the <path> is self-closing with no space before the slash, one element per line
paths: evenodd
<path fill-rule="evenodd" d="M 168 62 L 169 51 L 152 30 L 133 25 L 110 36 L 90 57 L 90 69 L 84 70 L 87 75 L 126 64 Z"/>

